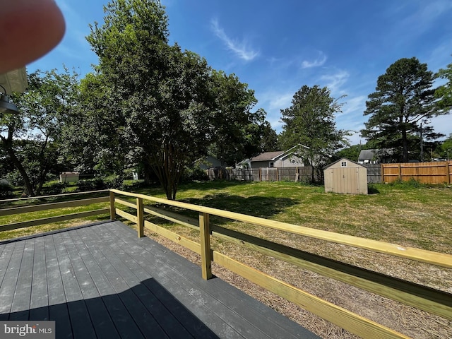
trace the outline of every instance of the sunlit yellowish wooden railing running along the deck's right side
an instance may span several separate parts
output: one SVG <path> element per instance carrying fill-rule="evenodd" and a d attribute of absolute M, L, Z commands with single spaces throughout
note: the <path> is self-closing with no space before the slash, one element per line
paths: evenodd
<path fill-rule="evenodd" d="M 128 198 L 119 198 L 118 195 L 126 196 Z M 133 200 L 131 201 L 130 198 Z M 146 205 L 144 203 L 145 201 L 147 202 Z M 151 205 L 148 205 L 148 203 L 151 203 Z M 125 210 L 118 208 L 118 205 L 133 208 L 133 210 L 136 210 L 136 213 L 131 214 L 126 212 Z M 175 213 L 174 211 L 161 208 L 161 206 L 172 206 L 179 210 L 191 210 L 198 213 L 198 218 L 189 218 L 179 213 Z M 251 282 L 266 288 L 276 295 L 297 304 L 299 307 L 311 311 L 312 313 L 321 316 L 323 319 L 331 321 L 331 323 L 335 323 L 362 338 L 408 337 L 402 333 L 393 331 L 391 328 L 387 328 L 386 326 L 348 311 L 347 309 L 338 307 L 331 302 L 311 295 L 298 287 L 287 284 L 260 270 L 251 268 L 226 254 L 222 254 L 218 249 L 211 248 L 211 238 L 232 242 L 238 246 L 246 246 L 261 254 L 292 263 L 299 268 L 311 270 L 312 272 L 324 275 L 328 278 L 333 278 L 343 283 L 410 305 L 411 307 L 422 309 L 431 314 L 441 316 L 448 321 L 452 320 L 452 295 L 448 292 L 417 285 L 406 280 L 400 280 L 389 275 L 376 273 L 347 263 L 334 261 L 330 258 L 310 254 L 309 252 L 283 244 L 220 227 L 219 225 L 210 222 L 210 216 L 214 215 L 239 222 L 251 223 L 261 227 L 269 227 L 273 230 L 299 234 L 337 244 L 345 244 L 360 249 L 408 258 L 413 261 L 420 261 L 422 263 L 429 263 L 445 268 L 452 268 L 452 255 L 450 254 L 441 254 L 434 251 L 425 251 L 396 244 L 388 244 L 360 237 L 352 237 L 345 234 L 315 230 L 309 227 L 291 225 L 284 222 L 256 218 L 240 213 L 196 206 L 179 201 L 169 201 L 163 198 L 145 196 L 143 194 L 133 194 L 116 189 L 110 190 L 110 209 L 112 211 L 112 220 L 116 218 L 115 215 L 119 215 L 122 218 L 126 218 L 127 220 L 136 223 L 138 237 L 143 237 L 144 229 L 146 228 L 151 232 L 160 234 L 163 237 L 200 254 L 201 272 L 204 279 L 207 280 L 212 277 L 211 263 L 218 263 L 218 265 L 242 275 L 242 277 Z M 194 242 L 193 240 L 172 232 L 154 222 L 145 220 L 146 214 L 197 230 L 199 232 L 199 242 Z"/>

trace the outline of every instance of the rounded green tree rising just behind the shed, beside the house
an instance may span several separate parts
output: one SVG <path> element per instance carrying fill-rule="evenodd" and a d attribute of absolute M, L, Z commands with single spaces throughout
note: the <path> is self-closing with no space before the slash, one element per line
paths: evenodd
<path fill-rule="evenodd" d="M 283 132 L 280 144 L 285 150 L 296 145 L 294 152 L 302 155 L 319 169 L 338 148 L 348 145 L 348 131 L 336 129 L 335 114 L 342 112 L 342 104 L 331 97 L 328 88 L 304 85 L 292 98 L 292 106 L 281 109 Z"/>

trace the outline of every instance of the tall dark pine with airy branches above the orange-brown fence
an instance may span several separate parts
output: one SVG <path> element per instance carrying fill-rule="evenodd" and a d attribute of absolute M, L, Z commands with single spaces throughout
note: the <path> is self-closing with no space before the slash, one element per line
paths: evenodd
<path fill-rule="evenodd" d="M 415 57 L 389 66 L 366 102 L 364 115 L 369 120 L 362 136 L 375 148 L 391 148 L 399 161 L 408 162 L 410 152 L 417 157 L 421 133 L 425 140 L 441 136 L 429 126 L 429 119 L 447 113 L 437 105 L 433 81 L 427 64 Z"/>

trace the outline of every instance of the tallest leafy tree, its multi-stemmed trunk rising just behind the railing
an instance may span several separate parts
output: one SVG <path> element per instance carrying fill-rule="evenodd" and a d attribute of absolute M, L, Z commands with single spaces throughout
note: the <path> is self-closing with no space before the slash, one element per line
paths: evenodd
<path fill-rule="evenodd" d="M 174 199 L 184 166 L 206 154 L 213 98 L 206 60 L 170 46 L 167 37 L 159 1 L 117 0 L 107 4 L 105 23 L 91 28 L 88 42 L 102 81 L 117 95 L 110 109 L 124 118 L 130 147 L 141 148 L 137 162 L 151 167 Z"/>

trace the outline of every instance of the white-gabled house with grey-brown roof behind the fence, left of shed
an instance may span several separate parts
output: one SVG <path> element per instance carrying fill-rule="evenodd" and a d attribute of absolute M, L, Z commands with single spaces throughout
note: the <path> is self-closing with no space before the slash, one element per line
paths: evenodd
<path fill-rule="evenodd" d="M 285 151 L 264 152 L 240 162 L 239 165 L 248 168 L 304 167 L 306 160 L 295 151 L 295 148 L 300 146 L 307 149 L 307 146 L 296 145 Z"/>

